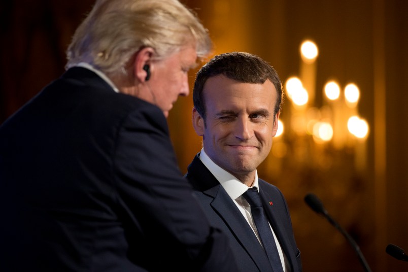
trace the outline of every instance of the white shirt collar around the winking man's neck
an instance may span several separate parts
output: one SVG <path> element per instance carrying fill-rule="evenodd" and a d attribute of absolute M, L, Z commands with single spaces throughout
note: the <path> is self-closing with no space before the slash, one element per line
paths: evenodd
<path fill-rule="evenodd" d="M 225 191 L 231 197 L 232 200 L 236 199 L 237 197 L 240 197 L 243 193 L 245 193 L 248 190 L 247 185 L 245 185 L 240 180 L 235 178 L 233 175 L 231 175 L 223 168 L 215 164 L 215 162 L 212 161 L 210 157 L 206 154 L 204 149 L 201 149 L 199 157 L 201 162 L 204 165 L 206 165 L 211 174 L 213 174 L 213 176 L 220 182 L 221 186 L 225 189 Z M 256 169 L 254 185 L 252 187 L 256 187 L 259 192 L 258 172 L 256 171 Z"/>

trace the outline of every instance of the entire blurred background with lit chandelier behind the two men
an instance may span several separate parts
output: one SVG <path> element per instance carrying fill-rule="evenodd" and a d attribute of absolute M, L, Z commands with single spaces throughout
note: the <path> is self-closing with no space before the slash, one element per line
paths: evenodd
<path fill-rule="evenodd" d="M 408 250 L 408 2 L 181 2 L 209 29 L 212 55 L 257 54 L 281 77 L 283 131 L 258 174 L 286 196 L 304 271 L 363 271 L 342 234 L 305 205 L 310 192 L 372 271 L 408 271 L 407 262 L 385 253 L 390 243 Z M 63 73 L 67 45 L 92 5 L 0 5 L 0 123 Z M 201 148 L 191 109 L 190 95 L 168 118 L 183 173 Z"/>

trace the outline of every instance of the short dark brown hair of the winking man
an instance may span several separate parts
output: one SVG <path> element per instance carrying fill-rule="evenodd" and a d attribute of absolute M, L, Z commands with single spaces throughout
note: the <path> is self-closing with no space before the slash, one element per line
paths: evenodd
<path fill-rule="evenodd" d="M 283 86 L 274 67 L 259 56 L 245 52 L 230 52 L 214 56 L 201 67 L 195 77 L 193 88 L 194 108 L 204 120 L 206 120 L 204 85 L 209 78 L 221 74 L 244 83 L 263 84 L 269 79 L 278 92 L 274 116 L 281 110 Z"/>

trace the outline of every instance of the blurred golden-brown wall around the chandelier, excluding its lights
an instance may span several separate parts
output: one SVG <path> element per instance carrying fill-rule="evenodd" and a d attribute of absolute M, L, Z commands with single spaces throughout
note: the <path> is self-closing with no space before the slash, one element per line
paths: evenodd
<path fill-rule="evenodd" d="M 214 54 L 248 51 L 270 62 L 282 81 L 299 75 L 299 45 L 319 47 L 315 104 L 323 104 L 325 82 L 356 83 L 358 112 L 369 123 L 364 166 L 358 143 L 342 150 L 321 147 L 286 132 L 287 153 L 270 154 L 258 168 L 276 184 L 291 210 L 305 271 L 362 271 L 357 256 L 325 219 L 303 202 L 316 193 L 329 213 L 354 237 L 373 271 L 404 271 L 408 264 L 385 253 L 389 243 L 408 248 L 408 3 L 402 1 L 189 0 L 209 29 Z M 194 75 L 191 73 L 191 82 Z M 191 98 L 180 99 L 169 117 L 183 172 L 200 150 L 190 124 Z M 286 99 L 281 118 L 291 115 Z M 183 125 L 182 125 L 183 124 Z M 185 125 L 184 125 L 185 124 Z M 361 148 L 360 148 L 361 149 Z"/>

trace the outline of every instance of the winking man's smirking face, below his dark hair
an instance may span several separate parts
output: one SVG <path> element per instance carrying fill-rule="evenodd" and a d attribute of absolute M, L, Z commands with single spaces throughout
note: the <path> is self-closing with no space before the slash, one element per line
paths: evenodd
<path fill-rule="evenodd" d="M 275 86 L 270 81 L 242 83 L 220 75 L 207 81 L 204 94 L 206 153 L 225 171 L 252 184 L 256 167 L 272 144 Z"/>

